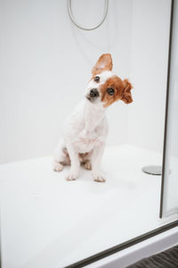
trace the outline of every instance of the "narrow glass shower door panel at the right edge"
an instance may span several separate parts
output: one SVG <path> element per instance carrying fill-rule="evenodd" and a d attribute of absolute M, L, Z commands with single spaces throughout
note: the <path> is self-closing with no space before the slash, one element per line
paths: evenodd
<path fill-rule="evenodd" d="M 178 213 L 178 1 L 173 1 L 160 217 Z"/>

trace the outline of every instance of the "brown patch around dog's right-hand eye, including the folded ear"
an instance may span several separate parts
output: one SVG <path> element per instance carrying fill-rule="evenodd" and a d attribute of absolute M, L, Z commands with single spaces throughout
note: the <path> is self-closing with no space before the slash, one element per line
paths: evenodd
<path fill-rule="evenodd" d="M 104 107 L 112 105 L 117 100 L 122 100 L 125 104 L 133 102 L 130 92 L 132 85 L 128 80 L 123 81 L 117 76 L 113 76 L 106 80 L 99 89 L 101 91 L 101 101 L 104 103 Z"/>

